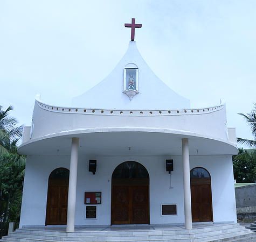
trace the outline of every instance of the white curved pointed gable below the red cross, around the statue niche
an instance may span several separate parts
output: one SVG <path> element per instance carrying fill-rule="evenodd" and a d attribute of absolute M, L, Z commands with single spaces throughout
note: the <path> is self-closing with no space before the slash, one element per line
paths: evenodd
<path fill-rule="evenodd" d="M 132 100 L 123 92 L 124 67 L 139 68 L 138 91 Z M 73 98 L 73 106 L 99 109 L 183 109 L 189 108 L 188 99 L 172 91 L 148 67 L 136 47 L 130 41 L 126 54 L 103 81 L 84 94 Z"/>

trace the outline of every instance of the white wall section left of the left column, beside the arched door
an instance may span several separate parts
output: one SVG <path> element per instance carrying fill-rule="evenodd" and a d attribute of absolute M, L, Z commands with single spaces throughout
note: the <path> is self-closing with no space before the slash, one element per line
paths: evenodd
<path fill-rule="evenodd" d="M 28 155 L 20 224 L 45 225 L 48 178 L 58 167 L 70 168 L 69 156 Z"/>

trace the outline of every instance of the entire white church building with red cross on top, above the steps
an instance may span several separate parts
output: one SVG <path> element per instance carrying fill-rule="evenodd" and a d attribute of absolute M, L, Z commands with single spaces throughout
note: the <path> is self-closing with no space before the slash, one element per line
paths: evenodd
<path fill-rule="evenodd" d="M 225 104 L 190 107 L 143 60 L 141 26 L 126 26 L 127 52 L 106 79 L 70 107 L 36 98 L 18 149 L 20 227 L 237 223 Z"/>

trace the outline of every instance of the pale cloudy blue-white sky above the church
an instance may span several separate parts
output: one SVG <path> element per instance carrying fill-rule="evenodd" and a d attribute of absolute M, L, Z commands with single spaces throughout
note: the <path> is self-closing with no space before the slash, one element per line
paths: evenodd
<path fill-rule="evenodd" d="M 0 105 L 13 105 L 25 125 L 37 93 L 69 106 L 122 58 L 131 18 L 142 24 L 137 47 L 160 79 L 193 108 L 224 98 L 228 126 L 253 138 L 237 113 L 256 103 L 254 0 L 0 0 Z"/>

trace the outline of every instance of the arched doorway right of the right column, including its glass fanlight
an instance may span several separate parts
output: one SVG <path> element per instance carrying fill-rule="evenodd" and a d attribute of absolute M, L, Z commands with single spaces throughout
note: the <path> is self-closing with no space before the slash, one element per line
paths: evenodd
<path fill-rule="evenodd" d="M 210 222 L 212 219 L 211 176 L 202 167 L 190 171 L 192 222 Z"/>

